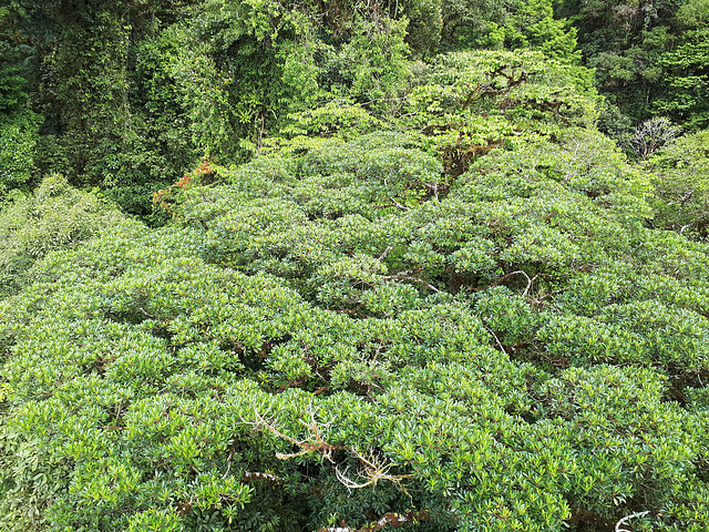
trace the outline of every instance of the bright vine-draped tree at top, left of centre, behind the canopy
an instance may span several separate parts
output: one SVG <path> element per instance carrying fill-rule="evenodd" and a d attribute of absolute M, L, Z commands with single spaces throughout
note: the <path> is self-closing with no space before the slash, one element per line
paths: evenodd
<path fill-rule="evenodd" d="M 275 116 L 317 90 L 314 50 L 300 45 L 314 37 L 310 23 L 291 7 L 213 0 L 168 31 L 178 42 L 169 71 L 207 155 L 243 155 L 239 140 L 258 142 Z"/>

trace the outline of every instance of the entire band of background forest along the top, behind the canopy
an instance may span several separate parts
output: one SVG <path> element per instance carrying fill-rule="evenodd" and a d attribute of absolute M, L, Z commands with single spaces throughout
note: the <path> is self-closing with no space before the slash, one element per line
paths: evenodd
<path fill-rule="evenodd" d="M 0 194 L 62 173 L 145 218 L 195 160 L 244 162 L 291 113 L 347 101 L 395 114 L 407 60 L 451 49 L 590 66 L 599 126 L 631 153 L 651 117 L 709 125 L 707 12 L 706 0 L 3 0 Z"/>

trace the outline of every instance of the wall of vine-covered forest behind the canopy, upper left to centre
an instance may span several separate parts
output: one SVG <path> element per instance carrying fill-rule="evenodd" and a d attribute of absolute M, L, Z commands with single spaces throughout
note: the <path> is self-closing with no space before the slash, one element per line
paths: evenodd
<path fill-rule="evenodd" d="M 0 17 L 31 43 L 27 89 L 44 117 L 39 143 L 35 122 L 3 130 L 18 140 L 1 153 L 27 153 L 3 157 L 16 175 L 4 186 L 29 180 L 16 168 L 33 156 L 40 173 L 100 186 L 146 219 L 154 192 L 201 157 L 243 162 L 289 113 L 351 99 L 390 114 L 409 76 L 407 28 L 429 53 L 440 27 L 435 2 L 56 1 Z M 2 70 L 0 106 L 25 99 L 20 55 Z"/>

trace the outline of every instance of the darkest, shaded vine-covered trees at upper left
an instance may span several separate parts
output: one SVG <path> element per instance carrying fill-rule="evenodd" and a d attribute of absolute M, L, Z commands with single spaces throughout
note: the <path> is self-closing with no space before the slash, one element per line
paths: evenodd
<path fill-rule="evenodd" d="M 74 185 L 110 188 L 124 211 L 140 215 L 150 214 L 150 195 L 195 158 L 179 139 L 185 133 L 174 134 L 175 120 L 173 131 L 160 127 L 140 106 L 151 103 L 156 111 L 165 104 L 164 98 L 160 103 L 151 101 L 153 94 L 146 98 L 141 85 L 147 82 L 133 73 L 136 62 L 141 73 L 155 69 L 151 58 L 136 58 L 134 44 L 138 35 L 154 34 L 151 18 L 169 8 L 154 3 L 146 13 L 134 2 L 31 2 L 28 24 L 38 18 L 48 22 L 41 39 L 27 29 L 43 42 L 37 44 L 42 83 L 33 95 L 45 117 L 37 149 L 40 171 L 61 172 Z"/>

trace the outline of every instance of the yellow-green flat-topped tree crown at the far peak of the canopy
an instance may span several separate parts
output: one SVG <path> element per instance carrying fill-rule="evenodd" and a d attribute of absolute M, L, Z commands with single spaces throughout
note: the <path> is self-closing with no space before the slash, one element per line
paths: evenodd
<path fill-rule="evenodd" d="M 536 51 L 449 53 L 418 72 L 401 122 L 425 133 L 419 145 L 443 152 L 456 176 L 492 150 L 589 126 L 598 103 L 590 75 Z"/>

